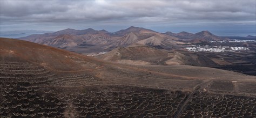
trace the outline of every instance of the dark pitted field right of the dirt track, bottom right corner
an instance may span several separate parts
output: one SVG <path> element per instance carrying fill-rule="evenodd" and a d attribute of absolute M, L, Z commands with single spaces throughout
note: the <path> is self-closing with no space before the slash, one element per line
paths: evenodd
<path fill-rule="evenodd" d="M 239 95 L 194 94 L 181 117 L 255 117 L 256 99 Z"/>

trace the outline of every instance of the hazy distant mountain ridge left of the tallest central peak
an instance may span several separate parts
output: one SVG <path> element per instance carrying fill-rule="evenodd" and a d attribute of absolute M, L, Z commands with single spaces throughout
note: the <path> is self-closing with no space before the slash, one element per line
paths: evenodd
<path fill-rule="evenodd" d="M 110 42 L 107 40 L 111 37 L 112 36 L 110 36 L 110 33 L 105 30 L 96 31 L 92 28 L 76 30 L 68 28 L 53 33 L 33 34 L 18 39 L 36 42 L 52 47 L 72 48 L 79 46 L 92 46 L 95 44 L 100 45 L 103 43 L 105 45 L 106 42 Z"/>

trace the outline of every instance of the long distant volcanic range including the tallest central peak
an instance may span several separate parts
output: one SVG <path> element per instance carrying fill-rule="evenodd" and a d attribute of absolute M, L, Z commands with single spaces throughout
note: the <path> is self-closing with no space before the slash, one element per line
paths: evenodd
<path fill-rule="evenodd" d="M 155 46 L 163 49 L 171 49 L 179 42 L 178 38 L 145 29 L 142 27 L 129 27 L 118 32 L 109 33 L 105 30 L 96 31 L 92 28 L 84 30 L 64 29 L 62 31 L 34 34 L 19 38 L 52 47 L 65 48 L 66 50 L 111 50 L 116 47 L 126 47 L 132 43 L 141 41 L 145 45 Z M 152 41 L 154 39 L 155 41 Z M 157 42 L 157 43 L 156 43 Z M 163 45 L 165 44 L 165 45 Z M 161 47 L 164 46 L 164 47 Z"/>

